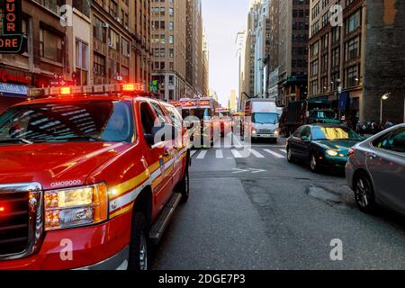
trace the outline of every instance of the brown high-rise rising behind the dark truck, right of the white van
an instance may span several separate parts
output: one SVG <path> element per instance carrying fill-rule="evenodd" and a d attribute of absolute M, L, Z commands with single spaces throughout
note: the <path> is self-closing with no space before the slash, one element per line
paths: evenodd
<path fill-rule="evenodd" d="M 274 1 L 279 25 L 277 103 L 285 105 L 307 97 L 310 0 Z"/>

